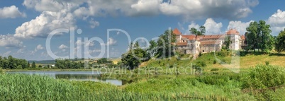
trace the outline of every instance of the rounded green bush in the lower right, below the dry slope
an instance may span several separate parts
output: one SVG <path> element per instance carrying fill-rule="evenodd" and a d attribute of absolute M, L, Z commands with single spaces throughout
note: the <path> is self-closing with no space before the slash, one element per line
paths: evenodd
<path fill-rule="evenodd" d="M 242 78 L 242 88 L 269 88 L 285 83 L 285 69 L 280 66 L 257 65 Z"/>

